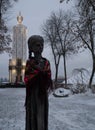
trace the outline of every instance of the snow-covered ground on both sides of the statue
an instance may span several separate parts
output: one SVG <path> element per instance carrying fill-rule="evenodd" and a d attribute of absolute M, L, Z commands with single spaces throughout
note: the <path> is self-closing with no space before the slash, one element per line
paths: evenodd
<path fill-rule="evenodd" d="M 25 130 L 25 88 L 0 89 L 0 130 Z M 49 96 L 49 130 L 95 130 L 95 95 Z"/>

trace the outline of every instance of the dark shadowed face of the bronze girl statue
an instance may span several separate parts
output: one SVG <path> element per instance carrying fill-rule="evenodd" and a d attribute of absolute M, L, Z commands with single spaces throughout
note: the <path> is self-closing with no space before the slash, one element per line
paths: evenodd
<path fill-rule="evenodd" d="M 41 54 L 43 51 L 43 43 L 35 42 L 31 44 L 31 51 L 35 53 Z"/>

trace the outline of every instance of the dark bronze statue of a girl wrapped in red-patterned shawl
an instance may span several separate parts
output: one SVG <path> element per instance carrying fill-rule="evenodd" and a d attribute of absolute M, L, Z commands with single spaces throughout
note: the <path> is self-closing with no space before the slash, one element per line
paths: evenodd
<path fill-rule="evenodd" d="M 48 130 L 48 92 L 52 90 L 50 63 L 42 57 L 44 39 L 33 35 L 28 39 L 26 62 L 26 130 Z"/>

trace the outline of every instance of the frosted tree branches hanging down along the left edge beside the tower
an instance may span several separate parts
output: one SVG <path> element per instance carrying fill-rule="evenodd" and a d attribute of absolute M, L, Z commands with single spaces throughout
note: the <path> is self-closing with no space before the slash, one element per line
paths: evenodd
<path fill-rule="evenodd" d="M 11 37 L 8 33 L 7 16 L 8 10 L 13 6 L 13 2 L 17 1 L 18 0 L 0 0 L 0 53 L 10 50 Z"/>

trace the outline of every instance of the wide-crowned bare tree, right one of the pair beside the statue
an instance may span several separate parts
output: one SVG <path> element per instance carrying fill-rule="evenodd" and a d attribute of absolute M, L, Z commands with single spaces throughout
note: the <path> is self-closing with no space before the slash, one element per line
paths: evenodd
<path fill-rule="evenodd" d="M 73 22 L 70 15 L 63 13 L 63 11 L 60 10 L 58 13 L 53 12 L 48 20 L 48 29 L 45 28 L 45 32 L 47 31 L 49 35 L 44 33 L 51 43 L 52 50 L 54 51 L 55 49 L 59 58 L 60 56 L 63 57 L 65 86 L 67 86 L 66 57 L 75 52 L 75 36 L 72 33 L 72 27 Z M 59 63 L 59 60 L 57 63 Z"/>

